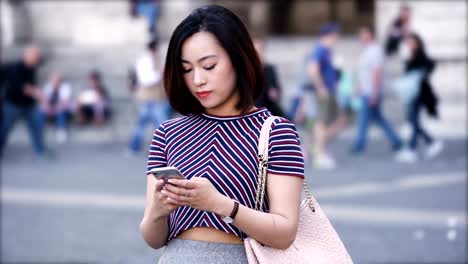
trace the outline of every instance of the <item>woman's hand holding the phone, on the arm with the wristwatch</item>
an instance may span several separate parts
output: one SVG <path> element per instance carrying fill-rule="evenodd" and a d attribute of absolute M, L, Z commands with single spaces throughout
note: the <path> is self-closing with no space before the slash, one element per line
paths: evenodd
<path fill-rule="evenodd" d="M 162 193 L 182 206 L 215 212 L 218 202 L 225 198 L 206 178 L 170 179 L 169 183 L 164 185 Z"/>

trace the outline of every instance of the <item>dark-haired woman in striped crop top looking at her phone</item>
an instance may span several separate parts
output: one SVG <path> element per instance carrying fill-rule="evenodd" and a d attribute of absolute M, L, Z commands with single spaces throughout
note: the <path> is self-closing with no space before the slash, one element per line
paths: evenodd
<path fill-rule="evenodd" d="M 140 230 L 151 247 L 167 245 L 160 263 L 246 263 L 247 236 L 288 248 L 304 177 L 299 137 L 286 119 L 272 125 L 268 196 L 264 211 L 255 211 L 257 144 L 271 113 L 254 106 L 262 66 L 239 18 L 210 5 L 183 20 L 169 42 L 164 86 L 185 116 L 159 126 L 148 155 Z M 185 180 L 152 176 L 167 166 Z"/>

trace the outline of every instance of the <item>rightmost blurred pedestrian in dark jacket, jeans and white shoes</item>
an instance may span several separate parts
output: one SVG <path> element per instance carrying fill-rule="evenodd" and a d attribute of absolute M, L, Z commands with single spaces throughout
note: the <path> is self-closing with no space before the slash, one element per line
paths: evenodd
<path fill-rule="evenodd" d="M 426 53 L 424 42 L 416 33 L 408 34 L 406 44 L 410 50 L 410 58 L 406 61 L 405 72 L 418 70 L 423 71 L 423 78 L 420 82 L 418 94 L 408 104 L 408 121 L 411 125 L 411 137 L 409 141 L 409 150 L 403 151 L 397 156 L 397 160 L 402 162 L 414 163 L 417 161 L 416 148 L 418 140 L 422 138 L 427 144 L 425 156 L 433 158 L 443 149 L 441 141 L 434 140 L 433 137 L 422 127 L 420 113 L 425 109 L 432 117 L 438 117 L 437 103 L 438 98 L 434 93 L 430 83 L 430 76 L 435 68 L 435 62 Z"/>

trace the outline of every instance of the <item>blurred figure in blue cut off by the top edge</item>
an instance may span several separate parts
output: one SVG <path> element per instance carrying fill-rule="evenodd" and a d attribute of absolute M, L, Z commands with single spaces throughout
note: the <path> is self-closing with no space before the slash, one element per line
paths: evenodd
<path fill-rule="evenodd" d="M 130 0 L 131 15 L 144 16 L 148 22 L 148 32 L 152 38 L 158 35 L 158 18 L 160 13 L 159 0 Z"/>

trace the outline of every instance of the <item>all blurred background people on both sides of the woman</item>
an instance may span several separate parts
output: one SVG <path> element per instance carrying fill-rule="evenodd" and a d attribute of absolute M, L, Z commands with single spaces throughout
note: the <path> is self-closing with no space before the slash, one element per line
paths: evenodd
<path fill-rule="evenodd" d="M 150 41 L 146 51 L 136 59 L 129 71 L 129 90 L 137 104 L 135 128 L 129 135 L 127 154 L 144 150 L 145 129 L 157 127 L 174 113 L 168 104 L 162 84 L 162 61 L 158 56 L 157 22 L 160 3 L 154 0 L 131 0 L 130 14 L 148 21 Z M 368 129 L 376 124 L 388 139 L 390 150 L 399 162 L 414 163 L 420 157 L 418 142 L 425 144 L 423 158 L 434 158 L 443 149 L 421 123 L 421 111 L 437 117 L 437 95 L 430 83 L 435 62 L 427 54 L 417 29 L 410 28 L 411 10 L 403 5 L 389 25 L 385 41 L 380 44 L 371 25 L 362 25 L 356 35 L 361 45 L 356 69 L 336 63 L 334 46 L 340 41 L 340 26 L 326 23 L 304 60 L 300 87 L 296 96 L 285 104 L 275 65 L 265 61 L 266 38 L 254 36 L 254 45 L 264 65 L 265 86 L 256 101 L 257 107 L 267 107 L 274 115 L 284 116 L 307 131 L 302 138 L 305 158 L 317 169 L 333 169 L 337 161 L 329 144 L 355 120 L 357 129 L 350 153 L 365 152 Z M 392 59 L 399 58 L 399 59 Z M 44 142 L 44 127 L 55 129 L 56 140 L 67 142 L 69 124 L 97 125 L 112 122 L 112 102 L 99 69 L 90 69 L 88 84 L 72 97 L 72 87 L 58 70 L 50 73 L 43 85 L 38 84 L 36 72 L 41 62 L 37 47 L 24 50 L 23 58 L 2 62 L 0 66 L 0 155 L 15 122 L 25 120 L 32 146 L 38 156 L 49 153 Z M 384 68 L 402 63 L 404 72 L 391 84 L 385 84 Z M 402 139 L 386 118 L 382 104 L 384 87 L 392 87 L 402 100 L 411 126 L 408 141 Z M 286 106 L 286 107 L 284 107 Z"/>

